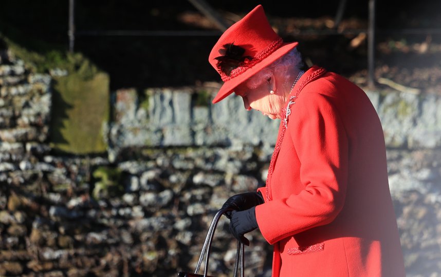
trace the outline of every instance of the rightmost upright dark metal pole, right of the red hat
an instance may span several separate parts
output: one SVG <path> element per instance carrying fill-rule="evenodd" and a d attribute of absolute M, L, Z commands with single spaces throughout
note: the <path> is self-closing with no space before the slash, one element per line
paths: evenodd
<path fill-rule="evenodd" d="M 369 27 L 367 30 L 367 86 L 375 87 L 375 0 L 369 0 Z"/>

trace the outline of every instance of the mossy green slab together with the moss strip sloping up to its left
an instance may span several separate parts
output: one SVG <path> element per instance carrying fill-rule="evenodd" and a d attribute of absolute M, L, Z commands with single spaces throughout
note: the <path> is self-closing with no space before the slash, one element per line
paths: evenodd
<path fill-rule="evenodd" d="M 106 151 L 103 126 L 109 120 L 109 76 L 81 53 L 68 53 L 46 45 L 30 51 L 4 38 L 8 48 L 31 72 L 66 70 L 53 77 L 49 144 L 58 152 L 93 154 Z"/>

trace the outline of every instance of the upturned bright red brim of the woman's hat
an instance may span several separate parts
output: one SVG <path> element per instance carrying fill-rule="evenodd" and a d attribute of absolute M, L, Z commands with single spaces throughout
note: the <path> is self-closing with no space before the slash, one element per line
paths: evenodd
<path fill-rule="evenodd" d="M 270 65 L 272 62 L 277 60 L 279 57 L 283 56 L 284 54 L 288 53 L 291 49 L 294 49 L 299 43 L 298 42 L 292 42 L 292 43 L 284 43 L 279 49 L 275 50 L 273 53 L 271 53 L 269 56 L 267 56 L 263 61 L 260 63 L 254 65 L 252 68 L 247 69 L 244 73 L 241 75 L 238 75 L 234 78 L 231 78 L 227 82 L 220 87 L 219 91 L 217 92 L 216 96 L 213 98 L 212 103 L 215 104 L 221 100 L 223 100 L 225 97 L 233 93 L 234 89 L 248 80 L 250 77 L 252 77 L 254 74 L 258 73 L 262 68 Z"/>

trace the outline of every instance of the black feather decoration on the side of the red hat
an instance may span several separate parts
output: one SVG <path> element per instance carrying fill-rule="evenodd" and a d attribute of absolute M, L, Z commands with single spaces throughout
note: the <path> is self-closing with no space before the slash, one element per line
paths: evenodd
<path fill-rule="evenodd" d="M 245 48 L 234 45 L 234 43 L 225 44 L 222 47 L 224 49 L 220 49 L 219 53 L 223 54 L 225 52 L 225 54 L 215 57 L 215 60 L 217 60 L 216 66 L 227 76 L 230 76 L 233 69 L 243 66 L 252 60 L 250 56 L 243 56 Z"/>

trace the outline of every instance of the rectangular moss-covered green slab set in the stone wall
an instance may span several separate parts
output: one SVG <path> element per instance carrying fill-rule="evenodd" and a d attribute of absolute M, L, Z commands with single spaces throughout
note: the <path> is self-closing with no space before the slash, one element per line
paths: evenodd
<path fill-rule="evenodd" d="M 50 145 L 75 154 L 106 150 L 102 127 L 109 115 L 109 77 L 79 72 L 56 78 L 52 96 Z"/>

